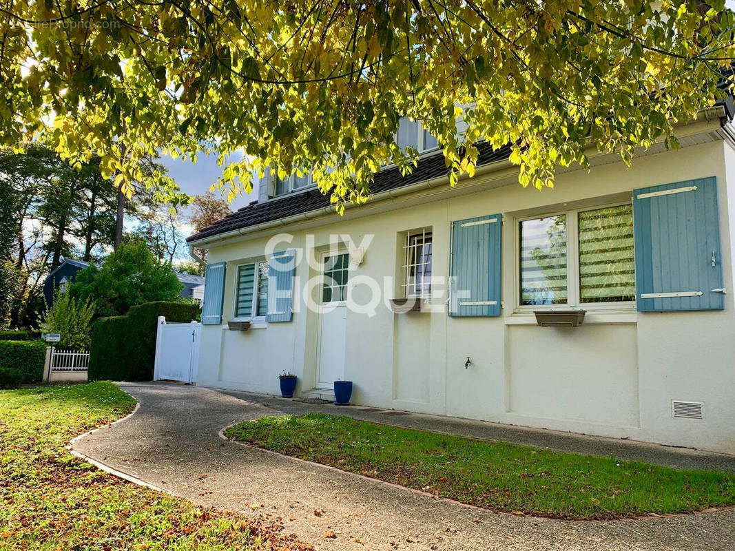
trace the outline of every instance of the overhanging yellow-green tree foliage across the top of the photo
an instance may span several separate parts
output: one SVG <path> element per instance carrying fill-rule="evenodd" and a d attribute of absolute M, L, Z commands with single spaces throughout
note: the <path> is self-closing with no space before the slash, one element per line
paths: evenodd
<path fill-rule="evenodd" d="M 17 0 L 1 10 L 0 136 L 98 154 L 131 192 L 157 148 L 214 151 L 220 185 L 313 165 L 340 204 L 373 171 L 410 170 L 401 117 L 434 134 L 451 181 L 473 143 L 512 144 L 520 183 L 587 165 L 591 139 L 630 159 L 722 95 L 734 18 L 724 0 Z M 457 136 L 455 122 L 467 125 Z M 209 144 L 209 145 L 206 145 Z M 465 146 L 462 148 L 462 146 Z M 155 179 L 157 176 L 150 176 Z"/>

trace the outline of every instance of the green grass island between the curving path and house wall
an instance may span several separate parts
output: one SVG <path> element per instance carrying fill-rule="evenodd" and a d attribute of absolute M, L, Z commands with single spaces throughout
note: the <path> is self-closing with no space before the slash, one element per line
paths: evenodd
<path fill-rule="evenodd" d="M 328 414 L 262 417 L 226 436 L 493 511 L 610 519 L 735 504 L 735 475 L 687 471 Z"/>

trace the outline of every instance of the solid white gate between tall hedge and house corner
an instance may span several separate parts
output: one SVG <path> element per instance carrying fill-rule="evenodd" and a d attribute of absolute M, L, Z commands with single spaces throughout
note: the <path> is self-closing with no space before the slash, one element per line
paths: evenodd
<path fill-rule="evenodd" d="M 167 323 L 166 318 L 160 316 L 154 380 L 196 383 L 200 340 L 201 323 Z"/>

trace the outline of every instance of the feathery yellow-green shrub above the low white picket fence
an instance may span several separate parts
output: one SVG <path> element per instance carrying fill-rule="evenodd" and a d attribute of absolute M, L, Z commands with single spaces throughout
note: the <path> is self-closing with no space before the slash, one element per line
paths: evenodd
<path fill-rule="evenodd" d="M 59 346 L 87 350 L 90 347 L 95 306 L 87 299 L 76 300 L 69 293 L 54 292 L 54 303 L 46 310 L 41 328 L 61 336 Z"/>

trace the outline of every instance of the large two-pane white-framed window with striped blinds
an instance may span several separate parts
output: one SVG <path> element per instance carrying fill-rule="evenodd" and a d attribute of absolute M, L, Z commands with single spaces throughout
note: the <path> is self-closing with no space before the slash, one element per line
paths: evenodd
<path fill-rule="evenodd" d="M 631 204 L 521 220 L 519 234 L 520 306 L 635 300 Z"/>

